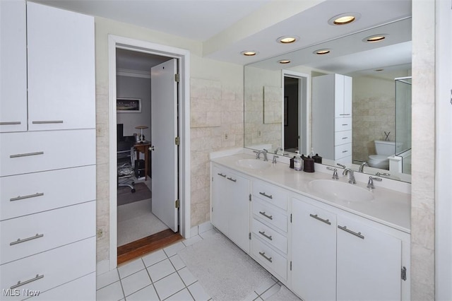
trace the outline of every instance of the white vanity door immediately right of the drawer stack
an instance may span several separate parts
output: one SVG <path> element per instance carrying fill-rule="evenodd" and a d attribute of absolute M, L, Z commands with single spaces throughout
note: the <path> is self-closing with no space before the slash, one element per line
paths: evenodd
<path fill-rule="evenodd" d="M 292 199 L 292 290 L 303 300 L 335 300 L 336 216 Z"/>

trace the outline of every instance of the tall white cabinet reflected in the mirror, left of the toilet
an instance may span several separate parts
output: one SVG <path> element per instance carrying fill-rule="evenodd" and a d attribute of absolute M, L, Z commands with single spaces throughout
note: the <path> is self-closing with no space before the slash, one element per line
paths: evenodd
<path fill-rule="evenodd" d="M 312 147 L 323 158 L 352 163 L 352 78 L 312 78 Z"/>

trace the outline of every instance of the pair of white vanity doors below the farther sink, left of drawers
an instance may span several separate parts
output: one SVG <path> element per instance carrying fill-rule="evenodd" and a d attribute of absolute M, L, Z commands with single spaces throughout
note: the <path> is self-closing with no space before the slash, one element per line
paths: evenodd
<path fill-rule="evenodd" d="M 211 175 L 210 222 L 249 253 L 249 179 L 215 164 Z"/>

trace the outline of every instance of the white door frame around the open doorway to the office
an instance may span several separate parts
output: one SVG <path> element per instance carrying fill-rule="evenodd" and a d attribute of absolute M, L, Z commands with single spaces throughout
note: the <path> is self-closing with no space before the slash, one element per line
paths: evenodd
<path fill-rule="evenodd" d="M 109 99 L 109 269 L 117 267 L 117 68 L 116 49 L 157 54 L 178 59 L 180 81 L 179 94 L 179 232 L 184 238 L 190 237 L 191 196 L 190 196 L 190 52 L 186 49 L 169 47 L 108 35 L 108 99 Z"/>

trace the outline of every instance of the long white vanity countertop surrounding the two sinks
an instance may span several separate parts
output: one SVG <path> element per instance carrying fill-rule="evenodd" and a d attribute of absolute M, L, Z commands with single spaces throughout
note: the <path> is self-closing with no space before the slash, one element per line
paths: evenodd
<path fill-rule="evenodd" d="M 328 200 L 317 191 L 309 187 L 309 182 L 314 179 L 331 179 L 333 172 L 303 172 L 289 168 L 285 163 L 271 164 L 264 170 L 254 170 L 239 166 L 237 161 L 240 159 L 252 159 L 254 155 L 239 153 L 237 155 L 227 155 L 220 158 L 211 158 L 213 163 L 218 163 L 232 170 L 237 170 L 245 175 L 262 179 L 263 181 L 278 185 L 298 194 L 303 194 L 312 199 L 316 199 L 331 206 L 354 213 L 358 216 L 374 220 L 377 223 L 388 225 L 391 228 L 407 232 L 410 234 L 411 220 L 411 195 L 400 191 L 379 187 L 380 182 L 374 182 L 375 189 L 371 193 L 374 199 L 371 201 L 342 201 Z M 339 182 L 348 182 L 348 177 L 343 176 L 341 170 L 338 170 Z M 383 179 L 383 181 L 390 181 Z M 348 184 L 348 183 L 347 183 Z M 352 185 L 352 184 L 349 184 Z M 367 189 L 367 182 L 359 182 L 357 187 Z"/>

